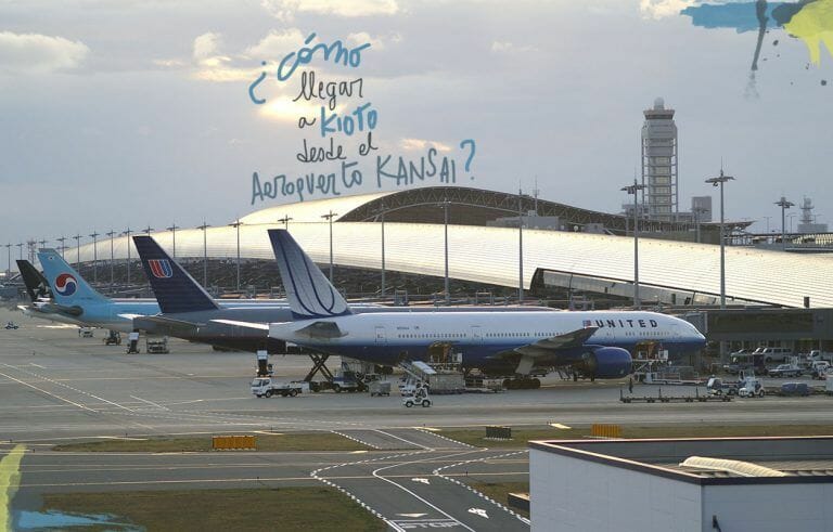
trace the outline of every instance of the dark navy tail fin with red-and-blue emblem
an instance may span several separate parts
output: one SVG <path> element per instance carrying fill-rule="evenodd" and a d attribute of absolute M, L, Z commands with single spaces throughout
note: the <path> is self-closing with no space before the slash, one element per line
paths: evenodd
<path fill-rule="evenodd" d="M 133 236 L 142 267 L 163 313 L 216 310 L 217 303 L 151 236 Z"/>

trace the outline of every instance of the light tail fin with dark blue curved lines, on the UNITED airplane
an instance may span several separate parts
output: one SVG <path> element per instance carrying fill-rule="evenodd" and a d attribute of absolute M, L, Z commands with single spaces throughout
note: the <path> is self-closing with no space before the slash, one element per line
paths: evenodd
<path fill-rule="evenodd" d="M 269 239 L 296 319 L 351 314 L 347 301 L 286 230 L 270 229 Z"/>

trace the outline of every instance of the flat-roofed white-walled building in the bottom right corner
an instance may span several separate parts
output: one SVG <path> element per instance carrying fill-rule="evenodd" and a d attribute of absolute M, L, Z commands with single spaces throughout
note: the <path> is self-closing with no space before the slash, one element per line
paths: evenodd
<path fill-rule="evenodd" d="M 529 447 L 533 531 L 833 531 L 833 437 Z"/>

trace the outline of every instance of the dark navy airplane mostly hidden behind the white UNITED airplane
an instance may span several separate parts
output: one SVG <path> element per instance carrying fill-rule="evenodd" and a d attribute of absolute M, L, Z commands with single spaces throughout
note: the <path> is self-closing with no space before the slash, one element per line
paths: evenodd
<path fill-rule="evenodd" d="M 174 260 L 153 237 L 133 236 L 142 267 L 151 288 L 159 303 L 161 313 L 133 317 L 133 327 L 153 335 L 172 336 L 190 341 L 239 349 L 243 351 L 267 350 L 285 353 L 283 340 L 270 338 L 266 328 L 240 326 L 236 323 L 255 322 L 264 326 L 270 322 L 292 321 L 293 315 L 285 300 L 279 304 L 239 307 L 233 301 L 218 306 L 205 289 Z M 356 313 L 368 312 L 425 312 L 434 309 L 384 307 L 370 303 L 351 303 Z M 542 307 L 537 311 L 549 310 Z M 464 308 L 445 308 L 444 312 L 458 312 Z"/>

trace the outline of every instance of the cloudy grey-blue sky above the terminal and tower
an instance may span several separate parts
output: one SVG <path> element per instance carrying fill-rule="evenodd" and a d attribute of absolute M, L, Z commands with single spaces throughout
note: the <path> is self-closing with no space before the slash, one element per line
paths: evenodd
<path fill-rule="evenodd" d="M 0 244 L 446 182 L 618 212 L 656 96 L 680 210 L 722 161 L 727 218 L 833 223 L 833 0 L 761 4 L 0 0 Z"/>

